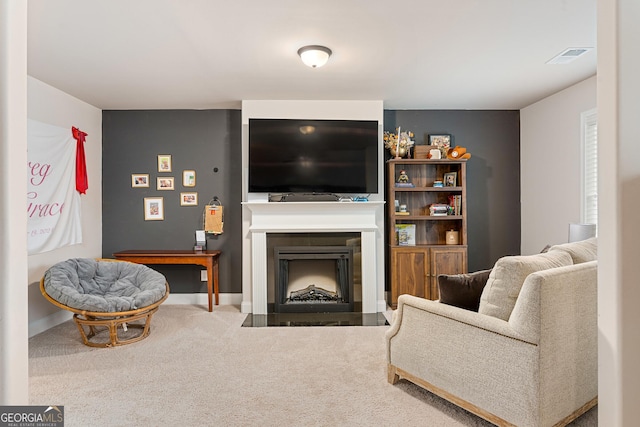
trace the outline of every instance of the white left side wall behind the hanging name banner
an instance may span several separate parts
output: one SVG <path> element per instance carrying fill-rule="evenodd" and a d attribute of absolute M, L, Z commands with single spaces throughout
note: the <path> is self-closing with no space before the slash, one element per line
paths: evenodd
<path fill-rule="evenodd" d="M 102 111 L 37 79 L 28 77 L 27 116 L 50 125 L 75 126 L 86 132 L 85 155 L 89 189 L 82 202 L 82 243 L 28 257 L 29 336 L 71 318 L 40 293 L 40 279 L 56 262 L 102 256 Z"/>

